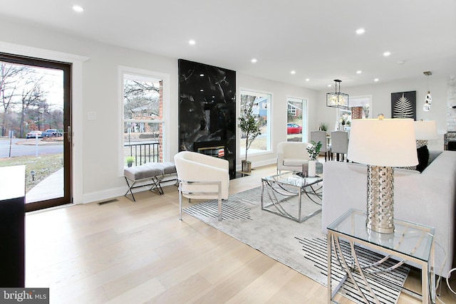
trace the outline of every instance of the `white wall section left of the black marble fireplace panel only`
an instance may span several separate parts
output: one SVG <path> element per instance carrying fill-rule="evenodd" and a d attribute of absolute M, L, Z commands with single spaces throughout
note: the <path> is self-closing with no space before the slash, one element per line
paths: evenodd
<path fill-rule="evenodd" d="M 119 65 L 144 70 L 153 70 L 170 75 L 170 112 L 174 117 L 168 125 L 170 154 L 167 160 L 177 151 L 177 59 L 155 56 L 150 53 L 133 51 L 127 48 L 110 46 L 88 41 L 83 38 L 68 36 L 49 31 L 37 26 L 16 23 L 1 19 L 4 31 L 0 41 L 15 43 L 21 46 L 42 48 L 45 50 L 86 56 L 88 61 L 82 64 L 82 95 L 73 99 L 73 112 L 82 114 L 73 120 L 73 130 L 78 144 L 74 151 L 80 159 L 82 168 L 74 168 L 75 184 L 81 185 L 81 193 L 73 193 L 76 203 L 108 199 L 124 194 L 125 179 L 118 172 L 119 145 Z M 87 120 L 87 113 L 95 112 L 96 120 Z M 73 162 L 78 163 L 78 161 Z M 125 190 L 125 191 L 124 191 Z"/>

